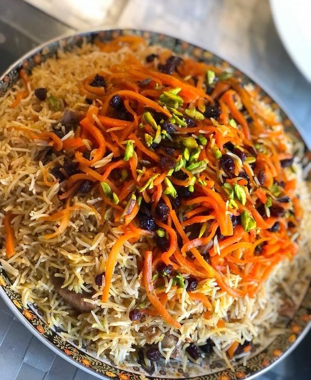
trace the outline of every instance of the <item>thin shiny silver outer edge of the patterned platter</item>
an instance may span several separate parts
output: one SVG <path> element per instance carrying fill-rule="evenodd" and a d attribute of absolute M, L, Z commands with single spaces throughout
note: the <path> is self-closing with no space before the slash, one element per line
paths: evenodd
<path fill-rule="evenodd" d="M 111 33 L 111 34 L 113 34 L 114 32 L 120 33 L 120 34 L 126 32 L 126 33 L 129 33 L 129 34 L 137 34 L 138 33 L 138 34 L 141 34 L 141 35 L 143 35 L 143 34 L 146 33 L 146 34 L 151 34 L 151 35 L 156 35 L 156 36 L 163 36 L 164 38 L 173 38 L 173 39 L 176 39 L 176 41 L 178 40 L 180 43 L 186 43 L 187 46 L 192 47 L 193 50 L 194 49 L 199 49 L 199 50 L 201 50 L 201 52 L 210 53 L 213 57 L 217 58 L 221 62 L 228 63 L 228 65 L 229 65 L 230 68 L 233 68 L 233 69 L 241 72 L 242 75 L 245 78 L 247 78 L 251 83 L 259 85 L 260 88 L 262 89 L 262 91 L 269 98 L 271 98 L 273 102 L 275 102 L 277 104 L 278 108 L 282 111 L 282 113 L 286 117 L 289 117 L 292 122 L 294 120 L 294 122 L 293 122 L 294 129 L 298 132 L 300 139 L 303 141 L 304 145 L 307 147 L 306 140 L 302 137 L 304 135 L 304 131 L 302 130 L 301 126 L 295 121 L 295 118 L 293 117 L 293 115 L 291 115 L 291 113 L 288 113 L 287 111 L 285 111 L 286 108 L 284 107 L 282 101 L 280 101 L 280 99 L 278 98 L 278 96 L 275 94 L 275 92 L 273 90 L 271 90 L 270 88 L 267 89 L 266 86 L 261 86 L 261 81 L 257 78 L 257 76 L 255 74 L 252 73 L 252 74 L 249 75 L 249 73 L 247 72 L 247 70 L 244 70 L 244 69 L 240 70 L 239 67 L 237 67 L 236 65 L 231 64 L 230 61 L 226 60 L 221 55 L 215 54 L 215 53 L 213 53 L 213 52 L 211 52 L 211 51 L 209 51 L 209 50 L 207 50 L 205 48 L 201 48 L 200 46 L 195 45 L 194 43 L 190 43 L 190 42 L 187 42 L 186 40 L 180 39 L 180 38 L 178 38 L 176 36 L 167 35 L 167 34 L 164 34 L 164 33 L 161 33 L 161 32 L 157 32 L 157 31 L 148 31 L 148 30 L 144 30 L 144 29 L 133 29 L 133 28 L 112 28 L 112 29 L 110 29 L 110 28 L 108 28 L 108 29 L 103 28 L 103 29 L 87 30 L 87 31 L 78 32 L 78 33 L 69 33 L 69 34 L 60 35 L 58 37 L 52 38 L 49 41 L 44 42 L 43 44 L 35 47 L 34 49 L 32 49 L 29 52 L 27 52 L 24 55 L 22 55 L 19 59 L 17 59 L 17 61 L 15 61 L 13 64 L 11 64 L 8 67 L 8 69 L 6 69 L 2 73 L 2 75 L 0 76 L 0 83 L 4 82 L 5 81 L 5 77 L 7 77 L 14 70 L 18 70 L 23 65 L 23 63 L 25 61 L 27 61 L 28 59 L 31 59 L 31 58 L 35 57 L 35 55 L 37 53 L 43 52 L 45 48 L 49 48 L 53 44 L 59 44 L 61 41 L 70 40 L 70 38 L 77 38 L 77 37 L 82 38 L 82 37 L 87 37 L 87 36 L 91 36 L 91 35 L 99 35 L 101 32 Z M 74 45 L 76 45 L 76 43 L 73 43 L 73 46 Z M 4 90 L 4 92 L 5 91 L 6 90 Z M 3 269 L 3 272 L 5 273 L 4 269 Z M 0 274 L 1 274 L 1 271 L 0 271 Z M 0 279 L 2 279 L 2 277 L 0 277 Z M 55 352 L 57 355 L 61 356 L 63 359 L 65 359 L 69 363 L 71 363 L 71 364 L 75 365 L 76 367 L 78 367 L 78 368 L 86 371 L 87 373 L 89 373 L 89 374 L 91 374 L 93 376 L 96 376 L 98 378 L 109 379 L 108 376 L 106 376 L 106 375 L 104 375 L 102 373 L 97 372 L 95 369 L 89 368 L 86 364 L 80 363 L 78 360 L 76 360 L 73 357 L 69 356 L 61 348 L 58 348 L 55 344 L 53 344 L 52 341 L 50 341 L 47 337 L 45 337 L 44 335 L 42 335 L 42 333 L 40 333 L 35 328 L 35 326 L 32 323 L 30 323 L 29 320 L 27 320 L 27 318 L 22 314 L 22 312 L 19 311 L 17 305 L 13 302 L 13 300 L 11 300 L 11 298 L 9 297 L 9 295 L 5 292 L 5 290 L 3 288 L 4 285 L 1 284 L 1 281 L 0 281 L 0 285 L 1 285 L 0 286 L 0 295 L 1 295 L 2 299 L 4 300 L 4 302 L 6 303 L 6 305 L 13 312 L 13 314 L 15 316 L 17 316 L 18 320 L 26 328 L 28 328 L 28 330 L 31 331 L 32 334 L 36 338 L 38 338 L 44 345 L 48 346 L 50 349 L 52 349 L 53 352 Z M 302 298 L 302 301 L 301 301 L 298 309 L 296 309 L 294 316 L 296 316 L 296 313 L 299 310 L 299 308 L 302 306 L 303 301 L 307 298 L 308 293 L 310 293 L 310 289 L 311 289 L 310 285 L 311 284 L 309 283 L 308 287 L 306 288 L 307 289 L 306 293 L 305 293 L 304 297 Z M 37 317 L 37 318 L 39 319 L 39 317 Z M 291 318 L 291 321 L 293 319 L 294 319 L 294 317 Z M 274 365 L 276 365 L 276 363 L 279 363 L 282 359 L 284 359 L 287 355 L 289 355 L 295 349 L 295 347 L 297 345 L 299 345 L 299 343 L 308 334 L 308 332 L 310 331 L 310 329 L 311 329 L 311 321 L 309 321 L 308 323 L 306 323 L 306 325 L 303 327 L 302 331 L 299 333 L 299 335 L 297 335 L 297 337 L 294 340 L 294 342 L 291 345 L 289 345 L 288 348 L 284 352 L 282 352 L 280 356 L 276 357 L 276 359 L 274 361 L 268 363 L 263 368 L 260 368 L 260 369 L 256 370 L 256 372 L 254 372 L 252 374 L 249 374 L 249 375 L 246 375 L 245 378 L 247 378 L 247 379 L 254 379 L 257 376 L 262 375 L 263 373 L 265 373 L 268 370 L 270 370 Z M 69 345 L 71 345 L 71 343 L 69 343 Z M 111 366 L 113 367 L 113 365 L 111 365 Z M 114 368 L 117 369 L 117 367 L 114 367 Z M 118 369 L 118 371 L 119 371 L 119 375 L 121 375 L 122 374 L 122 370 Z M 124 369 L 124 371 L 126 372 L 126 369 Z M 213 374 L 210 374 L 210 375 L 209 374 L 207 374 L 207 375 L 201 375 L 200 379 L 208 380 L 210 376 L 220 374 L 221 371 L 222 370 L 220 370 L 219 372 L 215 372 Z M 139 375 L 138 376 L 136 376 L 135 374 L 133 374 L 133 375 L 134 375 L 134 377 L 137 377 L 137 379 L 139 379 Z M 114 374 L 114 378 L 117 379 L 118 376 L 116 374 Z M 119 378 L 120 378 L 120 380 L 125 380 L 125 379 L 122 379 L 121 376 L 119 376 Z M 153 379 L 152 376 L 151 377 L 146 376 L 146 378 Z M 188 380 L 188 379 L 190 380 L 190 379 L 194 379 L 194 378 L 197 378 L 197 376 L 192 376 L 192 377 L 190 376 L 190 377 L 187 377 L 187 378 L 180 377 L 180 380 Z M 169 379 L 169 378 L 163 378 L 163 380 L 164 379 Z M 170 379 L 173 380 L 173 378 L 170 378 Z M 128 379 L 126 378 L 126 380 L 129 380 L 129 377 L 128 377 Z"/>

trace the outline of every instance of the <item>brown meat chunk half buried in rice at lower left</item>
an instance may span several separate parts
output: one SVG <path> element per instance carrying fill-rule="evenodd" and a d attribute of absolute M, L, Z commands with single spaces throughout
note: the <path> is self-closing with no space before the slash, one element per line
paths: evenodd
<path fill-rule="evenodd" d="M 64 299 L 66 303 L 78 311 L 79 314 L 90 312 L 96 308 L 96 305 L 84 300 L 84 298 L 90 299 L 92 297 L 92 293 L 75 293 L 73 290 L 69 290 L 68 288 L 62 288 L 64 282 L 60 277 L 54 277 L 53 283 L 56 292 Z"/>

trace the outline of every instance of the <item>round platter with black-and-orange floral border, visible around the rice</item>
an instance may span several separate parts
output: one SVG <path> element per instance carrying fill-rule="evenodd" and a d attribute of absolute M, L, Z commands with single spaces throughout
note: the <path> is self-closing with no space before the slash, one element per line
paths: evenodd
<path fill-rule="evenodd" d="M 244 75 L 239 69 L 236 69 L 228 62 L 217 55 L 208 52 L 202 48 L 194 46 L 186 41 L 163 35 L 155 32 L 147 32 L 141 30 L 106 30 L 86 32 L 77 35 L 70 35 L 54 39 L 41 45 L 28 54 L 21 57 L 13 64 L 0 78 L 0 95 L 14 84 L 19 78 L 19 69 L 28 70 L 44 62 L 47 58 L 56 55 L 58 49 L 70 51 L 76 46 L 86 42 L 93 42 L 95 38 L 102 41 L 109 41 L 119 35 L 140 35 L 147 39 L 150 44 L 160 45 L 171 49 L 176 54 L 188 54 L 190 57 L 202 60 L 213 65 L 219 66 L 227 71 L 231 71 L 234 75 L 242 78 L 244 84 L 254 83 L 250 78 Z M 292 121 L 286 113 L 275 103 L 275 101 L 261 89 L 264 100 L 271 104 L 281 118 L 282 123 L 286 127 L 288 133 L 294 138 L 302 141 L 298 131 L 294 127 Z M 305 161 L 309 159 L 309 153 L 306 146 Z M 299 302 L 293 304 L 290 298 L 285 298 L 284 302 L 288 304 L 287 318 L 280 317 L 277 321 L 277 327 L 283 328 L 284 333 L 277 336 L 267 336 L 265 346 L 253 346 L 250 359 L 246 365 L 237 362 L 234 371 L 228 369 L 225 362 L 216 360 L 208 363 L 204 361 L 202 365 L 190 363 L 187 372 L 182 369 L 182 363 L 171 363 L 170 365 L 160 363 L 157 371 L 150 371 L 147 368 L 139 367 L 135 363 L 131 366 L 128 363 L 122 363 L 119 366 L 109 362 L 106 359 L 97 358 L 96 354 L 87 350 L 87 347 L 77 347 L 73 342 L 65 341 L 60 331 L 49 328 L 42 318 L 40 310 L 35 305 L 29 305 L 29 308 L 22 306 L 20 295 L 11 287 L 11 282 L 5 270 L 0 266 L 0 294 L 17 318 L 35 334 L 44 344 L 49 346 L 57 354 L 64 357 L 71 363 L 83 368 L 100 378 L 120 379 L 120 380 L 138 380 L 141 375 L 150 379 L 195 379 L 195 380 L 231 380 L 231 379 L 251 379 L 263 371 L 268 370 L 274 363 L 281 360 L 303 339 L 311 327 L 311 288 L 310 279 L 301 278 L 302 291 L 299 294 Z M 286 297 L 284 295 L 284 297 Z"/>

